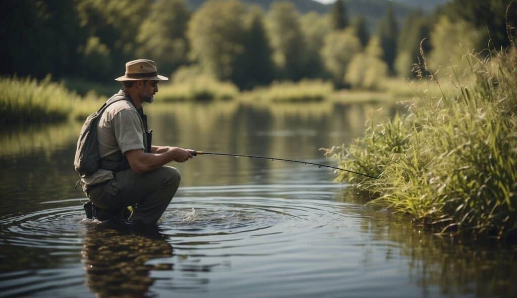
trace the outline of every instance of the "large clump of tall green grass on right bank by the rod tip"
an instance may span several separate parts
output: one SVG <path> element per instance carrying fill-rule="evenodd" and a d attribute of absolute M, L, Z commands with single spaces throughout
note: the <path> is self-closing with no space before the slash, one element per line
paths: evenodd
<path fill-rule="evenodd" d="M 517 51 L 465 56 L 470 79 L 453 70 L 454 96 L 418 91 L 408 113 L 370 121 L 364 137 L 327 154 L 339 173 L 381 204 L 442 232 L 517 234 Z M 440 82 L 429 72 L 429 84 Z"/>

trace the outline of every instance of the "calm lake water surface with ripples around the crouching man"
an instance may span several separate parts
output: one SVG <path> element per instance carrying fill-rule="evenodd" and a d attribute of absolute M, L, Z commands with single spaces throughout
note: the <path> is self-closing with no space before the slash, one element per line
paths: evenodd
<path fill-rule="evenodd" d="M 155 105 L 155 104 L 154 104 Z M 151 106 L 155 144 L 332 163 L 368 106 Z M 460 243 L 364 205 L 329 169 L 199 156 L 155 231 L 85 219 L 81 124 L 0 133 L 0 296 L 515 297 L 513 247 Z"/>

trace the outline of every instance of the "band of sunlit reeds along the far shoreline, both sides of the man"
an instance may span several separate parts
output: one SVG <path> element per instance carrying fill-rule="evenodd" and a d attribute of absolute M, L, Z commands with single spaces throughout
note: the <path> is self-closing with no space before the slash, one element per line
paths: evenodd
<path fill-rule="evenodd" d="M 273 82 L 269 86 L 240 92 L 231 82 L 219 82 L 209 77 L 196 77 L 183 82 L 159 85 L 155 105 L 181 102 L 238 101 L 251 105 L 290 105 L 299 103 L 386 102 L 394 105 L 397 100 L 410 98 L 409 85 L 402 80 L 390 82 L 393 90 L 360 91 L 334 90 L 330 81 L 302 80 L 300 82 Z M 87 90 L 90 86 L 91 89 Z M 115 85 L 116 86 L 116 85 Z M 111 93 L 118 88 L 110 88 Z M 50 76 L 43 80 L 30 77 L 0 78 L 0 115 L 5 124 L 83 121 L 96 111 L 110 96 L 108 87 L 87 81 L 63 80 L 54 82 Z"/>

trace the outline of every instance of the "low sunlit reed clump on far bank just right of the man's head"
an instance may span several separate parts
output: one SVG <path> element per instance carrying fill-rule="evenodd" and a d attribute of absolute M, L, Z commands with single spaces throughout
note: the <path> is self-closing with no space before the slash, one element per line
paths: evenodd
<path fill-rule="evenodd" d="M 160 84 L 155 95 L 157 101 L 210 101 L 231 100 L 239 95 L 238 88 L 231 82 L 221 82 L 207 76 L 191 80 Z"/>

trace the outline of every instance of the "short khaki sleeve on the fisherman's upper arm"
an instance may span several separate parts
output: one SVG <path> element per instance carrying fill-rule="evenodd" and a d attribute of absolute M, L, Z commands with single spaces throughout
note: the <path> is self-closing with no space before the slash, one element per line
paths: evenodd
<path fill-rule="evenodd" d="M 132 109 L 124 109 L 115 114 L 112 127 L 123 154 L 130 150 L 145 148 L 141 121 L 138 112 Z"/>

